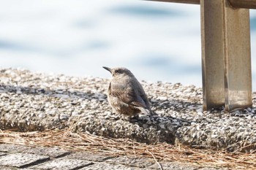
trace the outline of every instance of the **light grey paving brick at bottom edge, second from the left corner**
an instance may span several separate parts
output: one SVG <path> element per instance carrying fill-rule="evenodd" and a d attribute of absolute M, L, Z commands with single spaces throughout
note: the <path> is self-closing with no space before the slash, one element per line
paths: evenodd
<path fill-rule="evenodd" d="M 91 165 L 92 162 L 78 160 L 78 159 L 67 159 L 59 158 L 53 161 L 48 161 L 36 166 L 32 166 L 31 169 L 59 169 L 59 170 L 69 170 L 69 169 L 80 169 L 84 166 Z"/>

